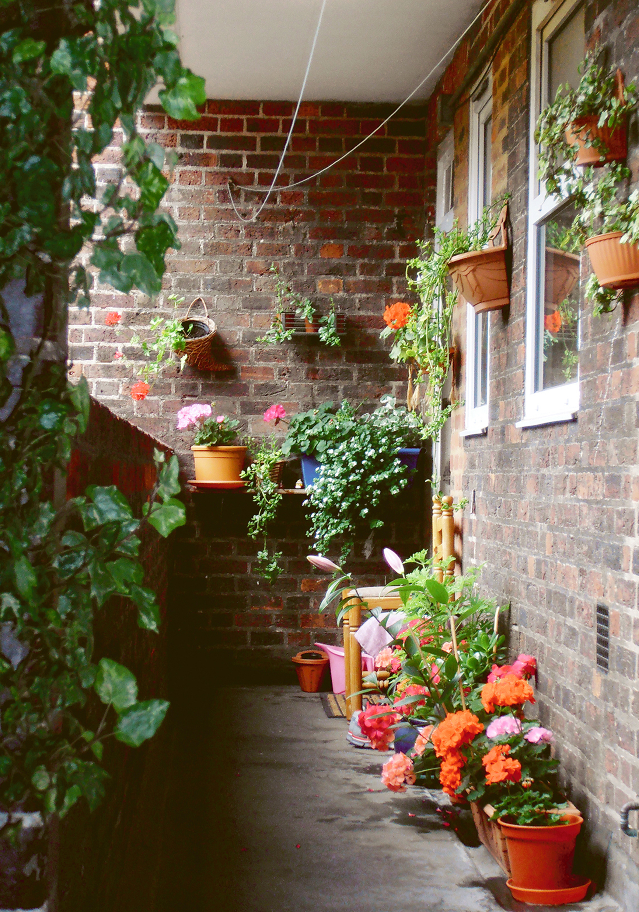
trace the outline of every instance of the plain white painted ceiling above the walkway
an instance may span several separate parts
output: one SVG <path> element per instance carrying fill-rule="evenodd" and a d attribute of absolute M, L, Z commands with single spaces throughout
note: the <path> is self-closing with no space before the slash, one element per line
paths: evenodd
<path fill-rule="evenodd" d="M 328 0 L 307 100 L 403 101 L 486 0 Z M 177 0 L 208 98 L 297 101 L 321 0 Z M 414 98 L 427 98 L 438 73 Z"/>

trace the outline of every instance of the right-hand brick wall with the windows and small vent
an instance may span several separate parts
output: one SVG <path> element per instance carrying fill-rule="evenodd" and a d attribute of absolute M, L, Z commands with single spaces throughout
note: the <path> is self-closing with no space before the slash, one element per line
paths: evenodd
<path fill-rule="evenodd" d="M 504 4 L 501 4 L 503 7 Z M 438 91 L 455 91 L 466 61 L 489 34 L 462 46 Z M 602 36 L 626 81 L 639 76 L 636 5 L 586 5 L 591 36 Z M 634 36 L 634 39 L 631 37 Z M 621 805 L 639 793 L 639 611 L 636 545 L 639 295 L 612 316 L 581 321 L 578 420 L 517 429 L 523 415 L 529 142 L 529 9 L 498 47 L 493 74 L 493 192 L 508 190 L 513 242 L 509 311 L 491 314 L 490 419 L 486 437 L 459 436 L 451 421 L 453 492 L 472 498 L 458 529 L 465 564 L 484 563 L 483 585 L 511 606 L 511 650 L 539 659 L 539 717 L 557 736 L 563 781 L 583 812 L 581 865 L 628 912 L 639 905 L 639 847 L 619 831 Z M 429 105 L 429 152 L 441 131 Z M 466 222 L 468 104 L 456 111 L 456 213 Z M 636 134 L 629 164 L 639 175 Z M 584 263 L 587 260 L 584 257 Z M 456 314 L 465 391 L 466 307 Z M 595 661 L 595 611 L 610 609 L 608 674 Z"/>

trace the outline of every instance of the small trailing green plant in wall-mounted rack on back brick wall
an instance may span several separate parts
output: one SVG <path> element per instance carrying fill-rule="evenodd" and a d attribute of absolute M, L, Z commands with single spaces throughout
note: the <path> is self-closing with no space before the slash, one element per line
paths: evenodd
<path fill-rule="evenodd" d="M 315 305 L 308 297 L 298 295 L 282 280 L 278 267 L 272 263 L 270 271 L 276 278 L 276 311 L 271 325 L 257 342 L 266 345 L 279 345 L 289 342 L 303 326 L 304 331 L 319 336 L 321 342 L 329 347 L 341 345 L 338 331 L 338 314 L 335 302 L 330 298 L 329 313 L 319 316 Z M 299 326 L 298 326 L 298 321 Z"/>

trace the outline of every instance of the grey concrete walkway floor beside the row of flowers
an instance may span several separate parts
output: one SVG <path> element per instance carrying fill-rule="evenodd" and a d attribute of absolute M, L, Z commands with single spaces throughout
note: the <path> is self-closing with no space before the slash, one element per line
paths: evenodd
<path fill-rule="evenodd" d="M 391 793 L 384 755 L 292 687 L 217 689 L 183 720 L 162 910 L 525 912 L 441 793 Z M 388 755 L 390 756 L 390 755 Z M 618 912 L 605 896 L 562 907 Z"/>

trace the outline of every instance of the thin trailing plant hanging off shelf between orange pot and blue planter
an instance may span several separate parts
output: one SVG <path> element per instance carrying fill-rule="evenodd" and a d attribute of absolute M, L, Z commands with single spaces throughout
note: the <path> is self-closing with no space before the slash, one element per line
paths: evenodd
<path fill-rule="evenodd" d="M 252 456 L 251 463 L 240 472 L 240 478 L 245 479 L 251 488 L 253 503 L 257 508 L 257 512 L 249 520 L 247 531 L 249 538 L 263 538 L 262 550 L 257 554 L 257 572 L 269 583 L 274 583 L 282 572 L 278 564 L 282 554 L 278 551 L 269 554 L 267 534 L 268 526 L 275 520 L 278 506 L 282 501 L 282 493 L 273 475 L 278 462 L 283 459 L 275 435 L 263 437 Z"/>

